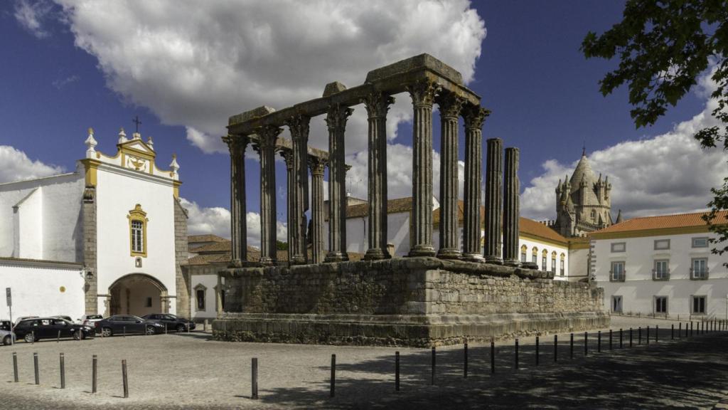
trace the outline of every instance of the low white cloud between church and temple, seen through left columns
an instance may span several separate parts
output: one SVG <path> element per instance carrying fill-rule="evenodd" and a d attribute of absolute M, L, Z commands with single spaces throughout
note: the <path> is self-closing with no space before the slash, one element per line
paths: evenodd
<path fill-rule="evenodd" d="M 190 235 L 212 233 L 223 238 L 230 238 L 230 211 L 221 206 L 210 208 L 199 206 L 194 201 L 180 198 L 182 206 L 187 209 L 189 220 L 187 230 Z M 261 245 L 261 216 L 256 212 L 248 212 L 245 220 L 248 223 L 248 244 L 253 247 Z M 287 240 L 288 231 L 285 223 L 278 221 L 277 239 Z"/>

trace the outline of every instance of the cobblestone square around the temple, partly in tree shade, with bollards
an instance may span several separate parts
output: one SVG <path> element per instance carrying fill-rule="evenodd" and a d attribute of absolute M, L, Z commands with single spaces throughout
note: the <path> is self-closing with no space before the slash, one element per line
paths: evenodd
<path fill-rule="evenodd" d="M 438 348 L 434 386 L 430 349 L 227 343 L 204 333 L 19 343 L 0 347 L 0 409 L 711 409 L 728 395 L 728 332 L 670 341 L 671 324 L 676 322 L 614 317 L 613 329 L 635 329 L 633 348 L 625 332 L 624 348 L 618 349 L 615 332 L 610 351 L 608 331 L 602 330 L 597 352 L 591 332 L 585 357 L 583 333 L 577 333 L 573 359 L 569 335 L 560 334 L 558 363 L 553 335 L 541 336 L 538 366 L 535 339 L 521 339 L 518 370 L 513 341 L 500 342 L 494 374 L 490 346 L 471 344 L 467 379 L 462 346 Z M 660 326 L 657 343 L 654 325 Z M 400 392 L 394 386 L 395 351 L 401 355 Z M 12 352 L 18 383 L 12 382 Z M 33 352 L 39 355 L 39 386 Z M 65 390 L 59 388 L 60 352 Z M 331 354 L 337 359 L 335 398 L 328 397 Z M 92 355 L 99 360 L 95 395 Z M 256 401 L 250 399 L 251 357 L 259 363 Z M 122 359 L 129 368 L 126 399 Z"/>

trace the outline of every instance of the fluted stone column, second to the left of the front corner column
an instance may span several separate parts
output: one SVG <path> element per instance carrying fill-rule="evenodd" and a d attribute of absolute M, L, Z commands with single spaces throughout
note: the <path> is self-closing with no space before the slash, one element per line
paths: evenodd
<path fill-rule="evenodd" d="M 344 130 L 353 109 L 328 108 L 328 255 L 325 262 L 349 260 L 347 255 L 347 183 L 344 169 Z"/>

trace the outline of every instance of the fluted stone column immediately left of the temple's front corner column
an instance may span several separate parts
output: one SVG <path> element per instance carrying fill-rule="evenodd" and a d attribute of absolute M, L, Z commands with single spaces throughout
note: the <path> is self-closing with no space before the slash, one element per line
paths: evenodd
<path fill-rule="evenodd" d="M 387 111 L 395 98 L 372 91 L 365 98 L 368 138 L 368 249 L 365 259 L 392 258 L 387 250 Z"/>

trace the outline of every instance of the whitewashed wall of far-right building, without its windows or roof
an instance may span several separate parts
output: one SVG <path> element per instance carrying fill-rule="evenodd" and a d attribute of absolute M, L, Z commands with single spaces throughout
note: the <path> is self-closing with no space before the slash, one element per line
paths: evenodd
<path fill-rule="evenodd" d="M 605 308 L 612 311 L 612 296 L 622 296 L 623 313 L 652 314 L 654 297 L 668 297 L 671 317 L 688 317 L 692 295 L 705 295 L 706 314 L 727 318 L 728 273 L 723 263 L 728 255 L 713 255 L 711 248 L 693 248 L 692 238 L 714 235 L 692 233 L 670 236 L 645 236 L 627 239 L 593 239 L 593 266 L 597 285 L 604 287 Z M 656 239 L 670 239 L 670 250 L 654 250 Z M 625 242 L 625 252 L 612 252 L 611 244 Z M 691 280 L 692 258 L 708 258 L 708 279 Z M 670 280 L 654 281 L 654 260 L 670 260 Z M 625 282 L 610 282 L 612 262 L 625 262 Z"/>

